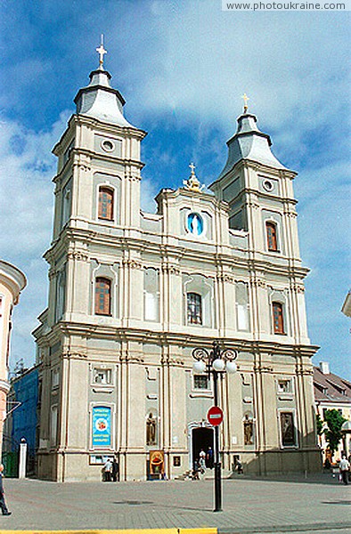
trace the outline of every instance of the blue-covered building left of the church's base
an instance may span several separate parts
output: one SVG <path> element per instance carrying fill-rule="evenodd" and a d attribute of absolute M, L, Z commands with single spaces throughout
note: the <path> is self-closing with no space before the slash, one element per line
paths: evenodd
<path fill-rule="evenodd" d="M 6 473 L 16 471 L 20 441 L 27 442 L 28 462 L 27 474 L 36 472 L 37 453 L 37 420 L 38 420 L 38 396 L 39 396 L 39 373 L 37 366 L 25 369 L 19 376 L 11 380 L 11 388 L 8 394 L 10 413 L 4 424 L 4 450 L 3 456 L 10 457 Z M 14 458 L 14 459 L 13 459 Z M 4 463 L 5 463 L 4 462 Z M 13 466 L 12 466 L 13 465 Z"/>

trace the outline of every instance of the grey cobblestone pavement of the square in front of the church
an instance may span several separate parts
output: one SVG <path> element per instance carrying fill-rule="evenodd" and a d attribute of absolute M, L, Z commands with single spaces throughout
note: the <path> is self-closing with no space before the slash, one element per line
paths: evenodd
<path fill-rule="evenodd" d="M 223 508 L 213 512 L 213 481 L 4 481 L 12 516 L 5 530 L 217 527 L 220 532 L 351 531 L 351 485 L 331 475 L 223 481 Z"/>

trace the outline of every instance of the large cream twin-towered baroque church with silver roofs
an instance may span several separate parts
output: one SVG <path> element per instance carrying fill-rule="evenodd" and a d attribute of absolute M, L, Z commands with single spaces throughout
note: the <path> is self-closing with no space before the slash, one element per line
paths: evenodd
<path fill-rule="evenodd" d="M 192 350 L 219 339 L 239 352 L 224 376 L 224 469 L 320 468 L 314 421 L 316 352 L 307 336 L 296 173 L 244 108 L 223 172 L 202 192 L 192 174 L 140 210 L 145 132 L 99 69 L 78 91 L 58 157 L 42 364 L 38 473 L 99 480 L 118 456 L 121 480 L 167 477 L 213 447 L 211 381 Z"/>

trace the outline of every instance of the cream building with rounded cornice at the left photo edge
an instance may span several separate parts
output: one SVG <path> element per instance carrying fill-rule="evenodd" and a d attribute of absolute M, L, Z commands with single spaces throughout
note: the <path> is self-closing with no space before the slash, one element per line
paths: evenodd
<path fill-rule="evenodd" d="M 27 279 L 20 269 L 0 260 L 0 457 L 6 418 L 6 397 L 10 389 L 8 372 L 12 310 L 13 306 L 19 302 L 20 292 L 26 284 Z"/>

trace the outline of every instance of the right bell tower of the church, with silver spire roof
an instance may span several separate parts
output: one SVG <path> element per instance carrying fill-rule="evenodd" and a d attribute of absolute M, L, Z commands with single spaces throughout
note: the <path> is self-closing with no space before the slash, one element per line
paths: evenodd
<path fill-rule="evenodd" d="M 296 265 L 300 263 L 292 187 L 296 173 L 273 156 L 271 138 L 258 129 L 247 100 L 237 131 L 227 142 L 224 169 L 210 188 L 230 206 L 229 227 L 249 232 L 251 255 L 279 253 Z"/>

